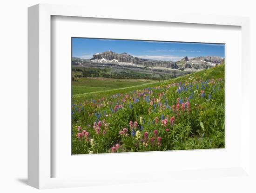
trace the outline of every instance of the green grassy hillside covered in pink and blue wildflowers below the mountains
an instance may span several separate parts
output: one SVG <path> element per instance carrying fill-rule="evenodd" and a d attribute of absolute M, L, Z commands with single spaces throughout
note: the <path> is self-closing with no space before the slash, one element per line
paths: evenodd
<path fill-rule="evenodd" d="M 98 81 L 90 93 L 75 83 L 73 154 L 224 148 L 224 64 L 167 81 Z"/>

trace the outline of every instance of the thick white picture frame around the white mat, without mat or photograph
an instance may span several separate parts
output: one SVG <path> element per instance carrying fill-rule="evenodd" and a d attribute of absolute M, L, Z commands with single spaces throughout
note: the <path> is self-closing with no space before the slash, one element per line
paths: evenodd
<path fill-rule="evenodd" d="M 250 178 L 249 152 L 249 18 L 218 15 L 189 15 L 186 13 L 133 13 L 123 11 L 115 16 L 109 15 L 109 10 L 95 13 L 93 10 L 81 6 L 62 6 L 38 4 L 28 8 L 28 185 L 36 188 L 78 187 L 90 185 L 104 185 L 133 182 L 154 182 L 175 179 L 185 179 L 189 174 L 195 176 L 215 176 L 223 180 L 226 176 Z M 125 177 L 102 174 L 84 177 L 52 177 L 51 169 L 51 16 L 69 16 L 104 19 L 129 19 L 155 22 L 175 22 L 202 25 L 239 26 L 242 32 L 242 93 L 241 106 L 241 161 L 236 167 L 218 169 L 205 168 L 193 171 L 157 171 L 152 174 L 126 174 Z M 138 153 L 141 156 L 143 154 Z M 104 156 L 104 155 L 103 155 Z M 118 155 L 115 155 L 115 157 Z M 114 159 L 114 157 L 113 157 Z M 150 173 L 149 173 L 150 174 Z M 161 176 L 161 178 L 159 177 Z M 200 177 L 198 177 L 200 180 Z M 103 180 L 105 179 L 105 180 Z M 132 180 L 128 180 L 132 179 Z M 210 183 L 210 181 L 209 181 Z"/>

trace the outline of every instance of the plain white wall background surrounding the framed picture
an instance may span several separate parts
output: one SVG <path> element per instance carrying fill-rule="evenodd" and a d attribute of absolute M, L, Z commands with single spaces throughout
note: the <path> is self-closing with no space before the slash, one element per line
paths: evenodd
<path fill-rule="evenodd" d="M 88 6 L 88 9 L 122 9 L 133 12 L 158 11 L 172 12 L 182 9 L 188 13 L 238 15 L 250 17 L 250 61 L 251 61 L 251 127 L 255 127 L 253 114 L 256 105 L 254 99 L 256 67 L 253 63 L 256 53 L 256 12 L 253 0 L 2 0 L 0 3 L 0 192 L 37 192 L 27 184 L 27 7 L 37 3 L 76 4 Z M 85 10 L 86 12 L 86 10 Z M 110 12 L 112 15 L 115 13 Z M 234 56 L 236 57 L 236 56 Z M 239 101 L 236 105 L 239 105 Z M 256 136 L 253 131 L 251 135 Z M 251 142 L 256 147 L 256 142 Z M 254 148 L 255 149 L 255 148 Z M 253 163 L 256 163 L 256 155 Z M 255 169 L 253 166 L 252 169 Z M 233 186 L 224 183 L 196 184 L 189 187 L 182 184 L 172 185 L 157 182 L 154 184 L 131 184 L 118 186 L 83 187 L 43 190 L 57 192 L 183 192 L 188 188 L 198 192 L 254 192 L 250 182 L 232 180 Z M 203 180 L 202 180 L 203 181 Z M 186 191 L 187 192 L 187 191 Z"/>

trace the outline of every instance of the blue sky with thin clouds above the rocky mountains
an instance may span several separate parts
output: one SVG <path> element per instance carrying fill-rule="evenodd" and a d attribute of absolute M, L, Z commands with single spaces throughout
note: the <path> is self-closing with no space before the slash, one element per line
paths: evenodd
<path fill-rule="evenodd" d="M 72 38 L 72 56 L 92 58 L 93 54 L 114 51 L 127 52 L 145 59 L 178 61 L 185 56 L 220 56 L 224 58 L 224 44 L 182 43 L 115 39 Z"/>

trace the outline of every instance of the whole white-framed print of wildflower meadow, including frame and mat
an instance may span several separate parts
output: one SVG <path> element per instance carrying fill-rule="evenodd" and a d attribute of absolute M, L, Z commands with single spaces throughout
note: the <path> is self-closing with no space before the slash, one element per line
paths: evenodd
<path fill-rule="evenodd" d="M 251 180 L 249 19 L 84 10 L 28 9 L 28 184 Z"/>

